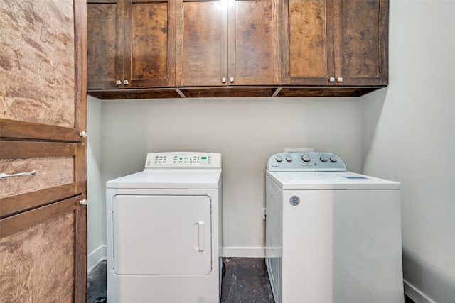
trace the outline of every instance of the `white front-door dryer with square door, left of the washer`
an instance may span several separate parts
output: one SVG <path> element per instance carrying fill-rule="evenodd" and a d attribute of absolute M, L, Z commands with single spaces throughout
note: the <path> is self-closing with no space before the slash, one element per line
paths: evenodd
<path fill-rule="evenodd" d="M 107 302 L 220 302 L 220 154 L 149 153 L 106 199 Z"/>

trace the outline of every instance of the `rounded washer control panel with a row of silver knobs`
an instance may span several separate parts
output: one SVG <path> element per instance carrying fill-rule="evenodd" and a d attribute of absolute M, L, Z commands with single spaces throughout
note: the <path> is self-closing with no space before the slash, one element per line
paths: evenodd
<path fill-rule="evenodd" d="M 277 153 L 267 162 L 269 172 L 344 172 L 343 160 L 332 153 Z"/>

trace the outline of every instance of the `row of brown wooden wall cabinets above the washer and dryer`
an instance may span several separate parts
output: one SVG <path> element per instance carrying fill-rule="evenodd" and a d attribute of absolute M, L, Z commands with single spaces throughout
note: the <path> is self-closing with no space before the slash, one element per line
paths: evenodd
<path fill-rule="evenodd" d="M 388 0 L 87 6 L 88 92 L 102 99 L 360 96 L 388 83 Z"/>

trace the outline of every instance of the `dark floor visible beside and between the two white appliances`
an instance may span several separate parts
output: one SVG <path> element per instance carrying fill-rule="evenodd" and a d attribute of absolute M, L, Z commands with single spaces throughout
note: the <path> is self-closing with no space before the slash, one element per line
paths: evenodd
<path fill-rule="evenodd" d="M 223 263 L 221 303 L 274 303 L 263 258 L 223 258 Z M 87 303 L 106 303 L 106 261 L 88 275 Z M 414 301 L 405 296 L 405 303 Z"/>

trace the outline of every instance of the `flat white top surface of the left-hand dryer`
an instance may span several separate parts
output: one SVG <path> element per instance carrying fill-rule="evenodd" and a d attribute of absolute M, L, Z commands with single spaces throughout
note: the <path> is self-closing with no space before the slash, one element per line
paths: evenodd
<path fill-rule="evenodd" d="M 218 189 L 221 169 L 144 170 L 106 182 L 106 188 Z"/>

